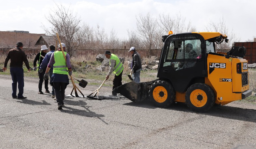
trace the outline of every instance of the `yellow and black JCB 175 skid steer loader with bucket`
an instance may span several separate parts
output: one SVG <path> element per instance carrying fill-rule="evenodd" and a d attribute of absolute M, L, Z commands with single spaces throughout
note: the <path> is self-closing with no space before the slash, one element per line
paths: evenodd
<path fill-rule="evenodd" d="M 158 65 L 159 79 L 126 83 L 116 91 L 133 102 L 150 99 L 158 107 L 185 102 L 196 112 L 206 112 L 214 103 L 225 105 L 251 95 L 245 47 L 216 53 L 215 44 L 228 42 L 220 33 L 164 35 Z"/>

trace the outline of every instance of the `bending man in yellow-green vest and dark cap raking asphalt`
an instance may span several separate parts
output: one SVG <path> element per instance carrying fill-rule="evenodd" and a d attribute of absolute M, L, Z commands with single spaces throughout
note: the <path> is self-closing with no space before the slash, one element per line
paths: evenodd
<path fill-rule="evenodd" d="M 123 64 L 119 60 L 119 58 L 115 54 L 111 54 L 110 51 L 105 52 L 105 56 L 109 59 L 109 72 L 106 76 L 106 80 L 109 78 L 109 75 L 113 72 L 115 77 L 113 79 L 113 90 L 116 87 L 122 85 L 122 74 L 123 74 Z M 112 90 L 112 95 L 110 96 L 117 96 L 117 93 Z"/>

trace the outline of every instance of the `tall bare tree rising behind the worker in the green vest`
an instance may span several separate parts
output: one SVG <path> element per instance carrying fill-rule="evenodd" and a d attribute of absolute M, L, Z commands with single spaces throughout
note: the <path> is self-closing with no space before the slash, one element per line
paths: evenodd
<path fill-rule="evenodd" d="M 56 3 L 55 3 L 56 4 Z M 73 14 L 73 10 L 65 8 L 62 4 L 56 4 L 56 8 L 52 9 L 48 17 L 45 17 L 52 25 L 50 28 L 46 28 L 43 25 L 43 29 L 47 35 L 56 36 L 59 34 L 60 39 L 66 45 L 66 50 L 70 56 L 74 54 L 80 45 L 80 19 L 77 14 Z"/>

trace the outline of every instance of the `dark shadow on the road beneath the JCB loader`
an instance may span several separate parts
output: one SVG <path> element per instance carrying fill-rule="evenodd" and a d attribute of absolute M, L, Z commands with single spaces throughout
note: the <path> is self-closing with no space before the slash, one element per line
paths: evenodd
<path fill-rule="evenodd" d="M 142 108 L 149 108 L 149 109 L 155 109 L 155 107 L 150 101 L 142 101 L 142 102 L 129 102 L 125 103 L 123 105 L 128 106 L 136 106 L 136 107 L 142 107 Z M 189 112 L 189 113 L 196 113 L 191 111 L 185 103 L 173 103 L 170 107 L 165 108 L 168 110 L 176 110 L 176 111 L 183 111 L 183 112 Z M 213 106 L 209 111 L 206 113 L 197 113 L 201 115 L 210 115 L 210 116 L 216 116 L 216 117 L 222 117 L 222 118 L 228 118 L 228 119 L 235 119 L 235 120 L 241 120 L 241 121 L 248 121 L 248 122 L 254 122 L 256 123 L 256 110 L 254 109 L 243 109 L 238 107 L 231 107 L 227 105 L 218 105 Z"/>

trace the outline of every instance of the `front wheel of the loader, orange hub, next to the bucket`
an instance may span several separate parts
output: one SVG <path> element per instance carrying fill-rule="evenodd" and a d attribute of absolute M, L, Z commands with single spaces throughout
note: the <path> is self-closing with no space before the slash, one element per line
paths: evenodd
<path fill-rule="evenodd" d="M 170 83 L 158 80 L 151 85 L 149 98 L 157 107 L 168 107 L 175 100 L 175 91 Z"/>

